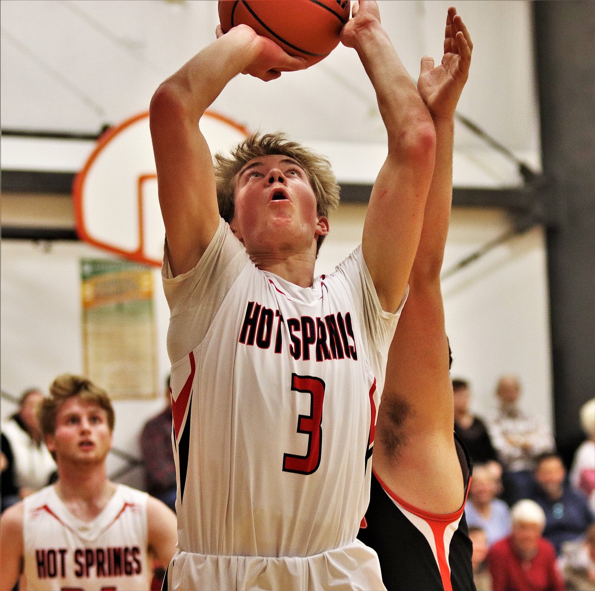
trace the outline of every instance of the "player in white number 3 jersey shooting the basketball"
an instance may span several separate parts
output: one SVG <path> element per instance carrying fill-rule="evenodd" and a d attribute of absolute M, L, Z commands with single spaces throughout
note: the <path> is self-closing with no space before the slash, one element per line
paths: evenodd
<path fill-rule="evenodd" d="M 150 108 L 178 478 L 168 588 L 381 589 L 377 556 L 356 535 L 434 125 L 376 2 L 354 2 L 341 41 L 374 86 L 388 156 L 361 247 L 314 278 L 338 202 L 328 161 L 269 134 L 215 167 L 199 128 L 237 74 L 266 82 L 305 62 L 247 26 L 217 35 Z"/>

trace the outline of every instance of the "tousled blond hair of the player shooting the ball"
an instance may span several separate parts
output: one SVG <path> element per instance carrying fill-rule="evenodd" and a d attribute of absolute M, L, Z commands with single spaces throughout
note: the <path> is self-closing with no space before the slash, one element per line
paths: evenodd
<path fill-rule="evenodd" d="M 309 148 L 287 139 L 284 133 L 253 133 L 231 150 L 231 155 L 217 153 L 214 156 L 215 181 L 219 213 L 226 222 L 231 222 L 235 213 L 237 173 L 250 160 L 267 155 L 283 155 L 292 158 L 308 175 L 316 195 L 317 214 L 327 217 L 339 206 L 339 183 L 327 158 Z M 318 237 L 317 254 L 324 236 Z"/>

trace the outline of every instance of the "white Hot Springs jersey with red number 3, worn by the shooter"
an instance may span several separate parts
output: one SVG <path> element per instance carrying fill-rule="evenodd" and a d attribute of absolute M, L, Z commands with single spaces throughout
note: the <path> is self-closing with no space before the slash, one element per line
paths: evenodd
<path fill-rule="evenodd" d="M 195 269 L 168 273 L 180 550 L 352 545 L 398 318 L 381 310 L 361 248 L 300 288 L 257 269 L 221 222 Z"/>

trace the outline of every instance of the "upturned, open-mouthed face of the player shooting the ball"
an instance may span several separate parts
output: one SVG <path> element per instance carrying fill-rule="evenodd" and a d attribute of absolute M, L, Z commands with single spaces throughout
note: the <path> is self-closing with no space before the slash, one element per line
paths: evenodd
<path fill-rule="evenodd" d="M 305 170 L 292 158 L 253 158 L 236 182 L 231 228 L 250 254 L 316 250 L 328 221 L 318 217 L 314 190 Z"/>

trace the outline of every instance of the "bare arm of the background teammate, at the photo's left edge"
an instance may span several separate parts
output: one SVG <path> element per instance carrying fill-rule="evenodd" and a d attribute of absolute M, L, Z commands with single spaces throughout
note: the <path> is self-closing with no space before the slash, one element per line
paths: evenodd
<path fill-rule="evenodd" d="M 0 591 L 14 588 L 23 571 L 23 503 L 9 507 L 0 518 Z"/>

